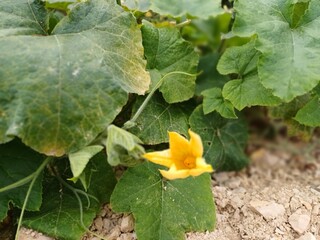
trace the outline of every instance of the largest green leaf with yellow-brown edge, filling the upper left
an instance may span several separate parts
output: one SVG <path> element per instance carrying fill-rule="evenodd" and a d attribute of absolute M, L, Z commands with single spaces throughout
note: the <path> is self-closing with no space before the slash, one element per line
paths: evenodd
<path fill-rule="evenodd" d="M 37 0 L 0 2 L 0 142 L 60 156 L 90 143 L 149 86 L 141 32 L 115 1 L 78 3 L 46 35 Z"/>

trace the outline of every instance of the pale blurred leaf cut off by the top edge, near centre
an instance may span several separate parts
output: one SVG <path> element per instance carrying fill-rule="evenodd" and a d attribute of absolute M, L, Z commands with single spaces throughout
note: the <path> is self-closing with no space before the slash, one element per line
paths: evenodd
<path fill-rule="evenodd" d="M 161 15 L 172 15 L 179 17 L 182 15 L 192 15 L 199 18 L 208 18 L 223 13 L 221 1 L 218 0 L 123 0 L 122 5 L 130 9 L 146 12 L 152 10 Z"/>

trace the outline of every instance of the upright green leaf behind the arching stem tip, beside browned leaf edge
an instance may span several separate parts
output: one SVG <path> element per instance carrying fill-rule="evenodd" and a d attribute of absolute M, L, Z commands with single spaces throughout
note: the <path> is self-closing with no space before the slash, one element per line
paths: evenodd
<path fill-rule="evenodd" d="M 160 87 L 168 103 L 182 102 L 194 95 L 198 55 L 174 27 L 156 28 L 144 21 L 141 28 L 147 68 L 164 78 Z M 152 74 L 152 82 L 160 80 Z M 155 85 L 153 83 L 153 85 Z"/>

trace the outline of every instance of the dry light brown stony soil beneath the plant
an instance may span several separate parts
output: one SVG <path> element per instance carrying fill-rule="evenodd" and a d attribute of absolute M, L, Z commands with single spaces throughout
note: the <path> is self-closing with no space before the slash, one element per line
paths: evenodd
<path fill-rule="evenodd" d="M 187 233 L 186 239 L 320 240 L 320 145 L 282 140 L 251 148 L 248 168 L 213 174 L 215 231 Z M 91 230 L 110 240 L 134 240 L 133 227 L 131 215 L 115 214 L 106 205 Z M 51 240 L 21 230 L 20 240 L 35 239 Z"/>

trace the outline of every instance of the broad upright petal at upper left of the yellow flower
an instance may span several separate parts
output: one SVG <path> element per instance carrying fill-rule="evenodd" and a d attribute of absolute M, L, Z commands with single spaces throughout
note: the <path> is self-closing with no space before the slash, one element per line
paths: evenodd
<path fill-rule="evenodd" d="M 169 132 L 169 144 L 171 157 L 178 168 L 183 166 L 183 161 L 191 154 L 190 143 L 187 139 L 176 132 Z"/>

